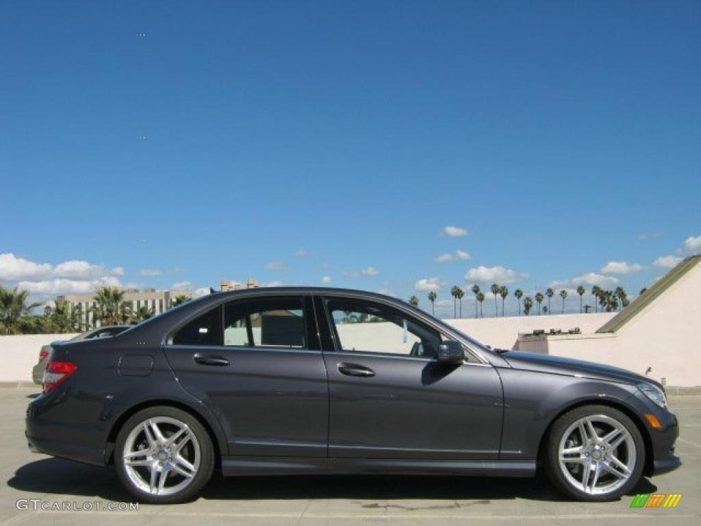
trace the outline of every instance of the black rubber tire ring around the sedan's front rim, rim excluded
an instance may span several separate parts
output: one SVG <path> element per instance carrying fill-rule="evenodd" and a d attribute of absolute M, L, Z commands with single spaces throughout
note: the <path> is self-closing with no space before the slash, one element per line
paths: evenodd
<path fill-rule="evenodd" d="M 562 435 L 566 429 L 571 426 L 571 424 L 582 417 L 595 414 L 604 414 L 605 416 L 611 417 L 625 426 L 633 438 L 636 450 L 636 459 L 632 476 L 624 485 L 618 488 L 618 490 L 606 494 L 592 495 L 573 487 L 565 478 L 564 473 L 562 473 L 559 466 L 559 443 L 560 440 L 562 440 Z M 620 410 L 614 409 L 613 407 L 608 407 L 607 405 L 584 405 L 566 412 L 552 424 L 547 440 L 547 449 L 545 451 L 545 472 L 552 483 L 557 486 L 559 490 L 562 490 L 562 492 L 569 495 L 569 497 L 582 501 L 611 501 L 620 499 L 622 495 L 629 492 L 632 487 L 638 483 L 645 468 L 645 454 L 645 443 L 640 430 L 627 414 Z"/>

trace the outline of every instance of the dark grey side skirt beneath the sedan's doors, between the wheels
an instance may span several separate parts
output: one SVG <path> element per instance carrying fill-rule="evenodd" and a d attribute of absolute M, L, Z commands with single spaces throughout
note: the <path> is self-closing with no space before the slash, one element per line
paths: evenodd
<path fill-rule="evenodd" d="M 533 477 L 535 462 L 222 457 L 224 476 L 269 475 L 461 475 Z"/>

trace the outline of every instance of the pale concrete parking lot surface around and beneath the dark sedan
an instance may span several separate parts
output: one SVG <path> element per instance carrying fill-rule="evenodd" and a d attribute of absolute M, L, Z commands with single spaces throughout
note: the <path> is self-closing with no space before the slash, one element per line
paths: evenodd
<path fill-rule="evenodd" d="M 585 504 L 564 499 L 546 480 L 456 477 L 215 476 L 189 504 L 110 511 L 129 502 L 112 468 L 34 454 L 24 438 L 25 407 L 35 391 L 0 389 L 0 524 L 55 525 L 604 525 L 701 524 L 701 397 L 670 402 L 681 421 L 677 451 L 683 466 L 644 479 L 617 502 Z M 676 508 L 630 508 L 636 493 L 682 494 Z M 54 508 L 43 511 L 40 499 Z M 18 509 L 25 504 L 27 509 Z M 54 504 L 58 503 L 58 504 Z M 55 509 L 69 503 L 71 508 Z M 100 503 L 100 510 L 95 509 Z M 86 511 L 86 507 L 92 507 Z"/>

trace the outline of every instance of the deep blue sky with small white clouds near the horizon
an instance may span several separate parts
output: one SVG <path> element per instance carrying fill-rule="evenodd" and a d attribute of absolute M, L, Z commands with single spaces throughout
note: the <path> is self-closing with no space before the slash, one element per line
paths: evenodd
<path fill-rule="evenodd" d="M 697 1 L 3 2 L 0 283 L 635 295 L 701 251 L 699 27 Z"/>

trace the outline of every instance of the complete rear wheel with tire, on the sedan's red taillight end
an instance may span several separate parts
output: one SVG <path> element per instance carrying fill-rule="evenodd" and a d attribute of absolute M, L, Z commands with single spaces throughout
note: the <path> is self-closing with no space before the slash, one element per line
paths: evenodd
<path fill-rule="evenodd" d="M 209 433 L 188 412 L 165 405 L 132 415 L 121 427 L 114 466 L 139 501 L 175 504 L 197 497 L 214 470 Z"/>

